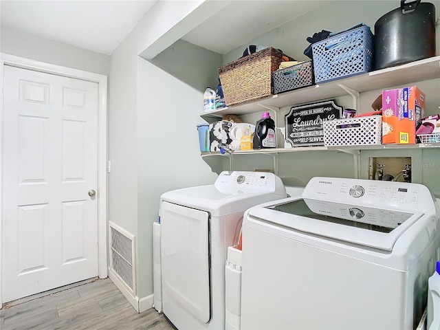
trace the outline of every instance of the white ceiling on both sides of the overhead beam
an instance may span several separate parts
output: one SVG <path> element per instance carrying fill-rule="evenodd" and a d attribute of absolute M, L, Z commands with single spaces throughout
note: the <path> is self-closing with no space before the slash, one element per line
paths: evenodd
<path fill-rule="evenodd" d="M 110 55 L 157 1 L 1 0 L 1 25 Z M 328 2 L 230 1 L 182 39 L 226 54 Z"/>

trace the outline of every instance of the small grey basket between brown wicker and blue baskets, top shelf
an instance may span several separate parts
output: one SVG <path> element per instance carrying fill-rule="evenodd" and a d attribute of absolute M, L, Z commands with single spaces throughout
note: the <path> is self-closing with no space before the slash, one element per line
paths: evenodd
<path fill-rule="evenodd" d="M 313 63 L 307 61 L 276 70 L 272 74 L 274 79 L 274 94 L 292 91 L 297 88 L 314 85 Z"/>

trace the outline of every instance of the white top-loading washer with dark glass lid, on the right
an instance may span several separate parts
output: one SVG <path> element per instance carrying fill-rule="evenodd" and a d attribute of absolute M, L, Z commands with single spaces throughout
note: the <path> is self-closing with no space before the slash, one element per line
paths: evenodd
<path fill-rule="evenodd" d="M 241 329 L 415 329 L 439 213 L 421 184 L 331 177 L 250 208 Z"/>

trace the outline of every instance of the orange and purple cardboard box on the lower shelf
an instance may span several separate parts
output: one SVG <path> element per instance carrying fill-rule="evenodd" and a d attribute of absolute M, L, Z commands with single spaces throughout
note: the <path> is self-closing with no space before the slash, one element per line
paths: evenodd
<path fill-rule="evenodd" d="M 415 144 L 425 113 L 425 94 L 410 86 L 382 91 L 382 144 Z"/>

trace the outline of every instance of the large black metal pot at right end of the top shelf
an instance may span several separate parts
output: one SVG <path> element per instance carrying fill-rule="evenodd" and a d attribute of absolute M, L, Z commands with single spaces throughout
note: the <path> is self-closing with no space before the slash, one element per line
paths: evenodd
<path fill-rule="evenodd" d="M 400 1 L 374 25 L 375 69 L 435 56 L 435 6 Z"/>

